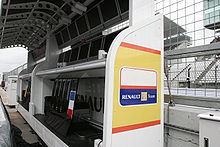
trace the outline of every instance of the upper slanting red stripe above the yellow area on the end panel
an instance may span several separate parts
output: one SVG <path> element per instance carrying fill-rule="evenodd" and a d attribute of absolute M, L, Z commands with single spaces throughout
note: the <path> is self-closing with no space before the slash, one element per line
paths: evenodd
<path fill-rule="evenodd" d="M 158 51 L 158 50 L 154 50 L 154 49 L 151 49 L 151 48 L 138 46 L 138 45 L 134 45 L 134 44 L 130 44 L 130 43 L 125 43 L 125 42 L 122 42 L 120 46 L 127 47 L 127 48 L 130 48 L 130 49 L 139 50 L 139 51 L 149 52 L 149 53 L 153 53 L 153 54 L 158 54 L 158 55 L 161 54 L 161 52 Z"/>

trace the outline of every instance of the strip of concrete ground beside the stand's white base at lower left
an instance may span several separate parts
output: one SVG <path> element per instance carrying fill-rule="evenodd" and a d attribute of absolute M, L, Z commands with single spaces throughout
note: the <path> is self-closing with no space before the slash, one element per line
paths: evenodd
<path fill-rule="evenodd" d="M 32 128 L 28 125 L 28 123 L 23 119 L 23 117 L 16 110 L 16 108 L 7 106 L 7 92 L 4 91 L 2 88 L 0 88 L 0 95 L 8 111 L 11 124 L 18 127 L 21 130 L 22 138 L 29 144 L 40 142 L 36 133 L 32 130 Z"/>

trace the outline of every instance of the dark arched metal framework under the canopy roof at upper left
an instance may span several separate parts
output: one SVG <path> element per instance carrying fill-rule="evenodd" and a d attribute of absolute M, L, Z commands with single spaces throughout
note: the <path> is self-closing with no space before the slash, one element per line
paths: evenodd
<path fill-rule="evenodd" d="M 37 48 L 48 32 L 71 23 L 76 4 L 85 9 L 94 0 L 5 0 L 2 4 L 0 48 L 22 44 Z M 79 10 L 79 9 L 77 9 Z M 79 10 L 81 11 L 81 10 Z"/>

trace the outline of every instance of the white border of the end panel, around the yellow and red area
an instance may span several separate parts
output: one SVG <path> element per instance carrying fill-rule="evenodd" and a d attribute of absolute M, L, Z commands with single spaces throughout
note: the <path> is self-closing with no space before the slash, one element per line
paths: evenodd
<path fill-rule="evenodd" d="M 133 132 L 129 134 L 128 132 L 124 132 L 124 133 L 118 133 L 112 135 L 112 112 L 113 112 L 112 106 L 113 106 L 114 69 L 115 69 L 114 66 L 115 66 L 117 49 L 119 48 L 121 42 L 126 42 L 126 43 L 161 51 L 161 73 L 163 73 L 163 16 L 157 15 L 143 21 L 142 23 L 129 27 L 128 29 L 122 31 L 111 44 L 106 62 L 103 145 L 105 147 L 135 147 L 135 146 L 162 147 L 163 111 L 161 111 L 160 126 L 129 131 L 129 132 Z M 163 74 L 158 76 L 161 76 L 161 78 L 163 79 Z M 160 92 L 161 92 L 161 110 L 163 110 L 163 80 L 161 81 Z M 134 142 L 134 144 L 132 144 L 132 142 Z"/>

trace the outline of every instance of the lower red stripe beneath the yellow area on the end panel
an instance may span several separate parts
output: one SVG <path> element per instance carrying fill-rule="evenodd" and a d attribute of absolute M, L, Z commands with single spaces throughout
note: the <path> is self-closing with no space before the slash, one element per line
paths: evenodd
<path fill-rule="evenodd" d="M 155 125 L 159 125 L 159 124 L 160 124 L 160 120 L 156 120 L 156 121 L 151 121 L 151 122 L 146 122 L 146 123 L 141 123 L 141 124 L 112 128 L 112 134 L 136 130 L 136 129 L 140 129 L 140 128 L 151 127 L 151 126 L 155 126 Z"/>

